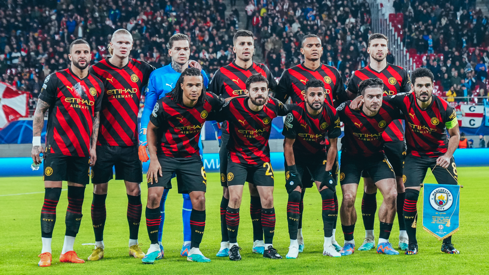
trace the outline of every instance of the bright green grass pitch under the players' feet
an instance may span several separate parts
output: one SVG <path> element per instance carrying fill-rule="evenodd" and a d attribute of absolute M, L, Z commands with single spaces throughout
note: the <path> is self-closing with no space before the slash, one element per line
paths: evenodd
<path fill-rule="evenodd" d="M 250 220 L 248 187 L 244 188 L 241 205 L 241 223 L 239 225 L 238 241 L 242 260 L 229 261 L 228 258 L 217 258 L 215 253 L 220 242 L 219 204 L 222 188 L 219 184 L 218 173 L 207 174 L 206 193 L 206 226 L 200 249 L 209 257 L 210 263 L 188 262 L 180 256 L 180 248 L 183 242 L 181 207 L 182 197 L 176 189 L 169 192 L 166 200 L 166 219 L 164 224 L 163 244 L 165 258 L 156 261 L 152 265 L 141 263 L 140 259 L 128 256 L 129 230 L 126 219 L 127 197 L 124 183 L 112 180 L 109 184 L 107 197 L 107 222 L 105 225 L 105 257 L 96 262 L 83 264 L 60 263 L 59 255 L 63 246 L 65 230 L 64 216 L 67 206 L 67 192 L 63 191 L 57 208 L 57 223 L 53 234 L 53 262 L 51 267 L 41 268 L 37 266 L 41 252 L 40 211 L 44 198 L 44 186 L 41 177 L 14 177 L 0 178 L 0 209 L 2 219 L 0 225 L 0 239 L 2 250 L 0 251 L 0 273 L 4 274 L 194 274 L 194 273 L 220 273 L 220 274 L 253 274 L 260 271 L 266 273 L 456 273 L 456 274 L 481 274 L 487 273 L 487 252 L 484 246 L 489 242 L 487 234 L 487 211 L 489 207 L 485 203 L 483 192 L 486 190 L 486 180 L 489 177 L 487 167 L 458 168 L 461 189 L 460 202 L 460 231 L 455 233 L 453 242 L 461 251 L 459 255 L 440 253 L 441 241 L 428 235 L 418 224 L 417 238 L 419 254 L 407 256 L 380 255 L 371 251 L 357 251 L 350 256 L 331 258 L 322 256 L 323 248 L 323 223 L 321 220 L 321 197 L 317 189 L 308 189 L 304 199 L 303 233 L 305 238 L 305 251 L 299 253 L 297 259 L 285 259 L 289 247 L 289 234 L 287 227 L 287 192 L 284 188 L 284 173 L 277 171 L 275 177 L 275 209 L 277 214 L 277 226 L 274 246 L 284 257 L 282 260 L 264 259 L 262 255 L 251 252 L 253 244 L 252 224 Z M 428 183 L 434 183 L 431 176 Z M 176 184 L 174 185 L 176 186 Z M 363 241 L 364 227 L 361 219 L 360 206 L 362 201 L 362 186 L 356 200 L 358 220 L 355 228 L 355 242 L 358 248 Z M 63 186 L 66 189 L 66 183 Z M 92 221 L 90 217 L 90 205 L 92 200 L 92 185 L 88 185 L 85 192 L 83 205 L 84 218 L 80 232 L 75 242 L 75 250 L 85 259 L 92 252 L 92 245 L 82 243 L 95 242 Z M 341 205 L 341 188 L 338 187 L 338 197 Z M 22 194 L 33 193 L 34 194 Z M 9 195 L 21 194 L 21 195 Z M 378 206 L 382 197 L 377 196 Z M 5 196 L 9 195 L 9 196 Z M 142 185 L 143 209 L 146 204 L 147 187 Z M 418 204 L 418 209 L 420 209 Z M 421 213 L 419 213 L 421 217 Z M 421 221 L 421 218 L 418 219 Z M 375 234 L 378 238 L 379 222 L 375 222 Z M 391 242 L 397 248 L 398 240 L 397 217 L 391 233 Z M 343 234 L 340 220 L 336 239 L 343 244 Z M 144 210 L 139 228 L 139 242 L 143 251 L 149 247 L 149 239 L 144 221 Z"/>

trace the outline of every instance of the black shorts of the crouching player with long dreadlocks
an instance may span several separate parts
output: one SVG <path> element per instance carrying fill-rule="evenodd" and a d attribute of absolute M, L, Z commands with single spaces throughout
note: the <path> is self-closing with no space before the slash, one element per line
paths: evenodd
<path fill-rule="evenodd" d="M 207 187 L 207 177 L 204 165 L 198 154 L 187 158 L 168 157 L 158 155 L 163 176 L 158 175 L 158 182 L 153 180 L 153 184 L 148 182 L 148 188 L 165 187 L 171 189 L 171 176 L 176 173 L 178 193 L 188 194 L 192 191 L 205 192 Z"/>

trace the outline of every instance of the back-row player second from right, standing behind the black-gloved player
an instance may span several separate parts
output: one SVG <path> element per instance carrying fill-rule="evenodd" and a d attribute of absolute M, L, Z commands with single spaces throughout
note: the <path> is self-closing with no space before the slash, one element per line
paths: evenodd
<path fill-rule="evenodd" d="M 310 79 L 321 80 L 324 83 L 325 95 L 324 101 L 330 106 L 333 105 L 333 101 L 337 100 L 343 103 L 348 100 L 345 94 L 345 87 L 343 86 L 343 80 L 340 73 L 335 67 L 331 67 L 321 63 L 321 56 L 323 55 L 323 46 L 321 45 L 321 39 L 317 35 L 306 35 L 301 41 L 302 48 L 301 53 L 304 55 L 304 63 L 287 69 L 280 78 L 279 85 L 275 93 L 275 97 L 282 102 L 287 102 L 291 99 L 292 103 L 299 104 L 304 102 L 304 95 L 306 90 L 306 83 Z M 341 98 L 340 98 L 341 97 Z M 338 105 L 338 104 L 336 104 Z M 329 147 L 329 141 L 325 136 L 325 145 Z M 333 165 L 333 173 L 338 172 L 338 160 L 335 160 Z M 299 203 L 299 229 L 297 240 L 299 243 L 299 252 L 304 251 L 304 237 L 302 235 L 302 216 L 304 212 L 304 194 L 306 188 L 313 187 L 314 181 L 311 180 L 309 170 L 305 169 L 302 176 L 303 188 L 301 191 L 301 201 Z M 335 201 L 335 217 L 338 217 L 338 198 L 336 193 L 334 194 Z M 335 240 L 336 233 L 336 220 L 333 225 L 333 246 L 339 251 L 341 246 Z"/>

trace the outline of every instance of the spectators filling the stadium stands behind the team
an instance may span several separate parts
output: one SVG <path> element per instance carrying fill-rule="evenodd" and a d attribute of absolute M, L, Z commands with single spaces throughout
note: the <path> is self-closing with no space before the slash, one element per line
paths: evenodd
<path fill-rule="evenodd" d="M 29 91 L 30 108 L 34 110 L 44 78 L 68 66 L 67 45 L 78 38 L 86 39 L 95 63 L 108 55 L 107 42 L 119 28 L 129 30 L 134 37 L 131 56 L 156 68 L 170 62 L 169 37 L 187 34 L 192 42 L 191 59 L 198 61 L 211 78 L 215 70 L 233 59 L 232 36 L 239 21 L 246 21 L 246 28 L 254 31 L 256 47 L 261 48 L 275 77 L 303 62 L 300 41 L 309 33 L 321 37 L 322 62 L 338 68 L 344 83 L 354 70 L 368 63 L 366 41 L 371 34 L 371 18 L 365 0 L 251 1 L 246 6 L 246 19 L 224 1 L 3 0 L 0 81 Z M 403 14 L 405 45 L 419 54 L 421 67 L 433 71 L 449 101 L 463 101 L 457 98 L 472 93 L 486 97 L 487 16 L 475 10 L 474 0 L 428 2 L 394 2 L 396 13 Z M 227 9 L 231 13 L 226 17 Z M 463 35 L 454 35 L 458 33 Z M 389 63 L 394 62 L 391 55 L 387 58 Z"/>

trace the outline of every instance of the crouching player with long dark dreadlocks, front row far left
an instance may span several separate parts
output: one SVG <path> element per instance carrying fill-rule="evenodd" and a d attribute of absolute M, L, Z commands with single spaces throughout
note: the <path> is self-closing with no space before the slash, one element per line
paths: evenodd
<path fill-rule="evenodd" d="M 171 188 L 170 178 L 174 172 L 181 178 L 178 192 L 188 193 L 192 201 L 191 243 L 187 260 L 210 261 L 199 250 L 205 227 L 207 182 L 198 140 L 202 125 L 210 117 L 209 112 L 220 109 L 224 102 L 215 94 L 205 92 L 200 70 L 188 68 L 181 74 L 175 88 L 156 103 L 147 130 L 150 164 L 146 225 L 151 245 L 142 259 L 143 263 L 161 259 L 159 205 L 164 189 Z"/>

